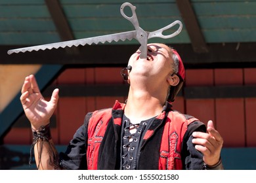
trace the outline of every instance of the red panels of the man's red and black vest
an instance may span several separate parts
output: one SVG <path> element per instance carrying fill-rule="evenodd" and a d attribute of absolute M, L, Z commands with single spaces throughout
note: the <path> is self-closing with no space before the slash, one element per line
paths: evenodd
<path fill-rule="evenodd" d="M 88 124 L 88 148 L 87 148 L 87 168 L 97 169 L 98 152 L 100 144 L 106 133 L 108 122 L 114 125 L 121 125 L 122 118 L 113 117 L 112 110 L 123 110 L 125 104 L 116 101 L 113 108 L 104 110 L 96 110 L 93 112 Z M 167 116 L 167 118 L 165 118 Z M 161 145 L 159 151 L 158 168 L 164 169 L 182 169 L 181 146 L 184 133 L 186 133 L 188 124 L 197 121 L 196 118 L 186 119 L 184 114 L 170 110 L 169 112 L 161 112 L 156 117 L 164 123 L 163 134 L 161 137 Z M 106 134 L 105 134 L 106 133 Z M 143 141 L 150 139 L 154 135 L 154 130 L 146 131 Z M 153 138 L 153 137 L 152 137 Z"/>

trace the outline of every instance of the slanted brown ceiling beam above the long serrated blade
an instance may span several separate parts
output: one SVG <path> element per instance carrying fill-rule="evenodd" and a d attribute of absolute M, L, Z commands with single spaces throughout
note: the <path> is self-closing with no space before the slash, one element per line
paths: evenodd
<path fill-rule="evenodd" d="M 64 14 L 64 11 L 62 10 L 60 1 L 45 0 L 45 4 L 47 5 L 47 8 L 51 14 L 51 17 L 53 18 L 53 22 L 56 26 L 58 34 L 60 35 L 61 41 L 74 40 L 75 39 L 74 34 L 72 32 L 70 25 L 68 24 L 68 20 L 66 18 L 66 15 Z M 79 49 L 75 46 L 72 46 L 72 48 L 69 48 L 69 49 L 65 48 L 65 50 L 68 54 L 79 53 Z"/>

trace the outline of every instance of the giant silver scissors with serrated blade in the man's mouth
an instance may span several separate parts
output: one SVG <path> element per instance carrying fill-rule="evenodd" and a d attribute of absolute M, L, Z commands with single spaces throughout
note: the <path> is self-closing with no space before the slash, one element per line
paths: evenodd
<path fill-rule="evenodd" d="M 132 16 L 129 17 L 123 12 L 125 7 L 131 8 L 131 11 L 133 13 Z M 140 43 L 140 48 L 139 48 L 139 50 L 141 52 L 140 58 L 146 59 L 148 39 L 151 39 L 152 37 L 160 37 L 163 39 L 169 39 L 169 38 L 175 37 L 176 35 L 181 33 L 182 23 L 179 20 L 176 20 L 175 22 L 173 22 L 161 29 L 153 31 L 153 32 L 144 31 L 139 26 L 139 21 L 138 21 L 135 9 L 136 9 L 136 7 L 133 6 L 131 3 L 123 3 L 120 7 L 121 15 L 133 24 L 133 26 L 135 27 L 134 31 L 127 31 L 127 32 L 123 32 L 123 33 L 114 33 L 114 34 L 110 34 L 110 35 L 102 35 L 102 36 L 89 37 L 89 38 L 84 38 L 84 39 L 76 39 L 76 40 L 72 40 L 72 41 L 41 44 L 38 46 L 29 46 L 29 47 L 25 47 L 25 48 L 17 48 L 17 49 L 13 49 L 13 50 L 8 50 L 7 53 L 10 55 L 13 53 L 18 54 L 19 52 L 32 52 L 33 50 L 35 50 L 35 51 L 46 50 L 46 49 L 51 50 L 53 48 L 58 49 L 58 48 L 65 48 L 65 47 L 79 46 L 79 45 L 85 46 L 85 44 L 89 44 L 89 45 L 98 44 L 99 42 L 104 44 L 104 42 L 125 41 L 127 39 L 129 41 L 131 41 L 132 39 L 137 39 L 137 41 Z M 179 28 L 177 29 L 177 31 L 175 31 L 174 33 L 171 33 L 170 35 L 163 35 L 163 31 L 166 31 L 167 29 L 170 29 L 171 27 L 173 27 L 177 24 L 179 24 Z"/>

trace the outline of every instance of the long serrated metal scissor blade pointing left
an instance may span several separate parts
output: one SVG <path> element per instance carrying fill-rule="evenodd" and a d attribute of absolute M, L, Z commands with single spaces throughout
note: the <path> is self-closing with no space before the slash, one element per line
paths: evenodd
<path fill-rule="evenodd" d="M 89 38 L 83 38 L 83 39 L 76 39 L 72 41 L 63 41 L 63 42 L 54 42 L 50 44 L 41 44 L 38 46 L 29 46 L 25 48 L 17 48 L 13 50 L 9 50 L 7 53 L 18 54 L 19 52 L 32 52 L 32 51 L 38 51 L 38 50 L 46 50 L 46 49 L 53 49 L 53 48 L 65 48 L 65 47 L 72 47 L 72 46 L 85 46 L 85 44 L 98 44 L 99 42 L 112 42 L 112 41 L 125 41 L 128 39 L 131 41 L 132 39 L 136 38 L 137 31 L 127 31 L 123 33 L 114 33 L 110 35 L 102 35 L 97 37 L 89 37 Z"/>

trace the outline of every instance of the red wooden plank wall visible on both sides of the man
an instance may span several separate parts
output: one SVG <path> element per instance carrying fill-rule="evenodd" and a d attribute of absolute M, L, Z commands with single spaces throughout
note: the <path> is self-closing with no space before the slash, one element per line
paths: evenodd
<path fill-rule="evenodd" d="M 60 84 L 125 84 L 120 76 L 121 67 L 66 69 L 54 80 Z M 256 69 L 187 69 L 184 88 L 190 86 L 250 86 L 256 84 Z M 62 91 L 60 91 L 62 92 Z M 118 97 L 61 97 L 56 108 L 52 135 L 56 144 L 67 144 L 77 127 L 83 124 L 87 112 L 112 107 Z M 191 99 L 179 95 L 173 108 L 199 118 L 207 124 L 213 120 L 224 138 L 224 147 L 256 146 L 254 109 L 256 97 L 224 97 Z M 4 139 L 5 144 L 31 144 L 29 122 L 21 117 Z"/>

